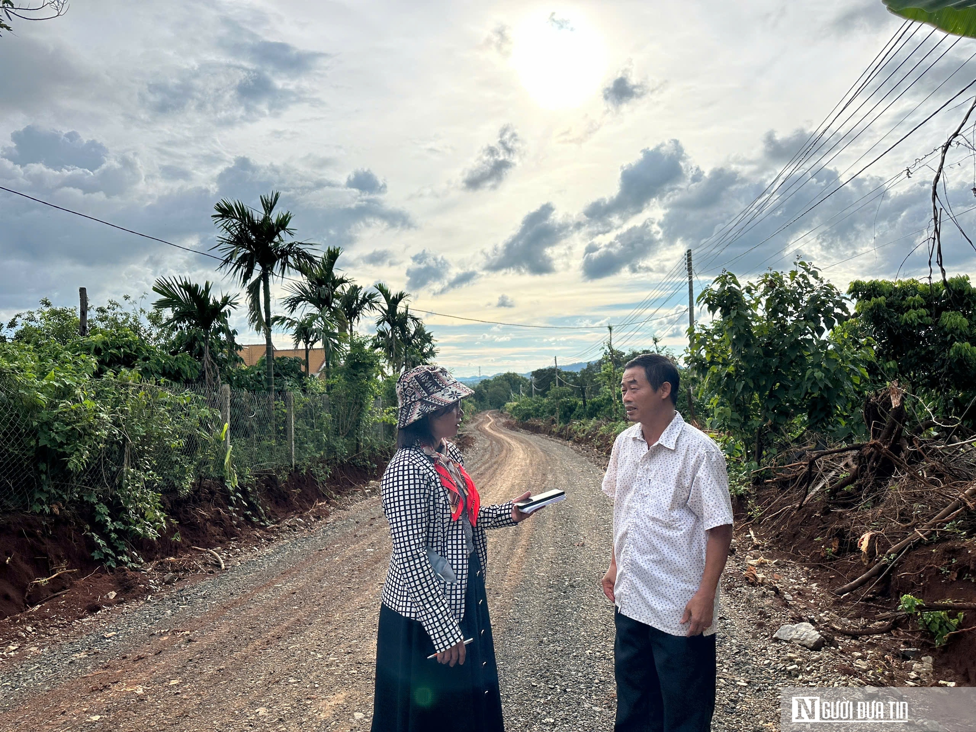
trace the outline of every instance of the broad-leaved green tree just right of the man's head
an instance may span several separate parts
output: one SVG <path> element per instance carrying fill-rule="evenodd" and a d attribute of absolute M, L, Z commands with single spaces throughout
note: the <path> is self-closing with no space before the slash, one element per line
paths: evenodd
<path fill-rule="evenodd" d="M 857 428 L 871 346 L 847 324 L 843 295 L 810 264 L 766 272 L 740 285 L 722 272 L 699 296 L 714 319 L 699 326 L 690 365 L 709 396 L 712 425 L 739 439 L 758 464 L 766 435 L 796 417 L 805 427 L 845 437 Z"/>

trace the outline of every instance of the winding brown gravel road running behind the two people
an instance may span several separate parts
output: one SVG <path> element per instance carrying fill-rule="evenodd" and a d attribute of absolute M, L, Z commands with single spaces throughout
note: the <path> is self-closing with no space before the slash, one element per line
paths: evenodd
<path fill-rule="evenodd" d="M 613 614 L 598 589 L 612 512 L 598 459 L 491 413 L 472 428 L 466 465 L 483 500 L 568 496 L 489 532 L 508 729 L 612 730 Z M 0 660 L 0 729 L 368 729 L 386 521 L 374 495 L 323 523 L 226 556 L 225 572 L 195 585 L 43 640 L 24 633 L 30 647 Z M 746 559 L 740 550 L 723 579 L 716 730 L 778 728 L 777 687 L 833 683 L 841 654 L 770 640 L 788 609 L 742 581 Z"/>

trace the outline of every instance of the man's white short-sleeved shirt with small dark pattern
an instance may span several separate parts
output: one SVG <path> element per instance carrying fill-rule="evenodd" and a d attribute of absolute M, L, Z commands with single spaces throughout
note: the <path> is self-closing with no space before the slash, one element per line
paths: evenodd
<path fill-rule="evenodd" d="M 650 448 L 640 424 L 621 432 L 603 477 L 614 500 L 616 604 L 627 617 L 687 635 L 685 605 L 705 572 L 706 531 L 732 523 L 725 457 L 677 412 Z M 712 626 L 718 618 L 718 589 Z"/>

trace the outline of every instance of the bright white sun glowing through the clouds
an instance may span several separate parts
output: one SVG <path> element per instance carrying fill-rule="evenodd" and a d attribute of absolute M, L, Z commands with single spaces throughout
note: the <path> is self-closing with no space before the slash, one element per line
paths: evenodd
<path fill-rule="evenodd" d="M 603 43 L 579 13 L 534 14 L 512 36 L 511 64 L 540 106 L 579 106 L 599 89 L 606 65 Z"/>

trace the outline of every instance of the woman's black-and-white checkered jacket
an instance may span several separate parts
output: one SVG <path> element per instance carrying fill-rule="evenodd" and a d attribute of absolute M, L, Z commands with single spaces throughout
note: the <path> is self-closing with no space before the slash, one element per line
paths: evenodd
<path fill-rule="evenodd" d="M 457 446 L 446 444 L 447 457 L 463 465 Z M 451 520 L 448 491 L 422 450 L 403 448 L 389 462 L 383 474 L 383 512 L 393 543 L 383 603 L 420 621 L 434 650 L 446 651 L 464 640 L 460 624 L 468 589 L 468 550 L 461 521 Z M 514 525 L 510 501 L 481 507 L 473 528 L 474 549 L 482 568 L 488 563 L 485 529 Z M 445 582 L 434 574 L 428 547 L 447 559 L 457 582 Z"/>

